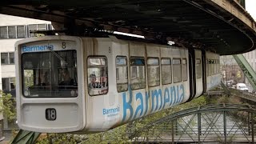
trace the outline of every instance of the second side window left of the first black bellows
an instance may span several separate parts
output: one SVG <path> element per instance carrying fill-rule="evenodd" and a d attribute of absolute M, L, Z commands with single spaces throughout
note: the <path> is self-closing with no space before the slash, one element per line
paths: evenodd
<path fill-rule="evenodd" d="M 175 82 L 182 82 L 182 64 L 180 58 L 173 59 L 173 78 Z"/>

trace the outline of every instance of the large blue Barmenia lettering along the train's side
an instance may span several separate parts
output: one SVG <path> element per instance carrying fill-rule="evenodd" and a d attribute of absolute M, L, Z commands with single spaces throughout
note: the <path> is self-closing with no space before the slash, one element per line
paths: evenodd
<path fill-rule="evenodd" d="M 130 121 L 135 118 L 141 118 L 146 114 L 152 114 L 156 111 L 163 110 L 170 106 L 177 105 L 181 103 L 184 99 L 184 86 L 170 86 L 166 87 L 165 90 L 150 90 L 145 93 L 145 97 L 143 98 L 142 93 L 138 92 L 134 94 L 133 97 L 132 90 L 130 86 L 128 86 L 129 95 L 126 97 L 126 93 L 122 93 L 122 102 L 123 102 L 123 114 L 122 114 L 122 122 L 126 121 L 127 111 L 130 111 L 130 116 L 127 121 Z M 136 99 L 135 99 L 136 98 Z M 151 101 L 150 101 L 151 98 Z M 140 105 L 134 107 L 133 103 L 140 102 Z M 145 106 L 144 106 L 145 104 Z M 148 109 L 150 111 L 148 111 Z M 139 113 L 139 115 L 138 115 Z"/>

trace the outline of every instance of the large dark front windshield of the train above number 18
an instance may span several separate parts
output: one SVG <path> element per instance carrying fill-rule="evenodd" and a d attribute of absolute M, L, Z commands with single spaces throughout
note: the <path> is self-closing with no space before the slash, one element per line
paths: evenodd
<path fill-rule="evenodd" d="M 76 97 L 76 50 L 22 54 L 22 91 L 25 97 Z"/>

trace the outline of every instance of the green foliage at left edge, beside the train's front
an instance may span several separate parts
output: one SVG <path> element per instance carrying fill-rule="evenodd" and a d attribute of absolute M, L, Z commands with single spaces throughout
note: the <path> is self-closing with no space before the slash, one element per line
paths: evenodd
<path fill-rule="evenodd" d="M 0 111 L 6 115 L 9 122 L 16 118 L 16 101 L 11 94 L 5 94 L 1 91 Z"/>

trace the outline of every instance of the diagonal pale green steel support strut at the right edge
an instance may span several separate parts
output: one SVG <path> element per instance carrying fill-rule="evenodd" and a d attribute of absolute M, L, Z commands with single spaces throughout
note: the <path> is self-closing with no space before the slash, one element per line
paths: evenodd
<path fill-rule="evenodd" d="M 238 62 L 238 66 L 240 66 L 241 70 L 250 82 L 250 85 L 253 86 L 254 90 L 256 90 L 256 73 L 254 69 L 250 66 L 242 54 L 236 54 L 233 55 L 233 57 L 235 61 Z"/>

